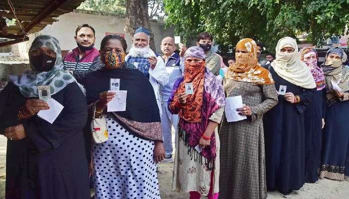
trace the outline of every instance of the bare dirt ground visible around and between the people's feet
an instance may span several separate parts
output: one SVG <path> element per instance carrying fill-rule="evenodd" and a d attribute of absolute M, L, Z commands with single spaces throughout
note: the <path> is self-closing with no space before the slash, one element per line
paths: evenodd
<path fill-rule="evenodd" d="M 5 155 L 6 138 L 0 135 L 0 199 L 5 194 Z M 159 184 L 162 199 L 188 199 L 188 194 L 172 191 L 172 163 L 159 165 Z M 292 199 L 349 199 L 349 179 L 332 181 L 322 179 L 319 183 L 305 184 L 299 191 L 290 195 Z M 278 192 L 268 192 L 268 199 L 284 199 Z"/>

